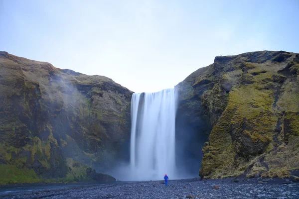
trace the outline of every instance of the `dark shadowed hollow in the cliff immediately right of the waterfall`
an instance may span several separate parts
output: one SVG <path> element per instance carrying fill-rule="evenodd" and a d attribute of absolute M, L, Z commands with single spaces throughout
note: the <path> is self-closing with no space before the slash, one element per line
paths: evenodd
<path fill-rule="evenodd" d="M 187 103 L 181 101 L 175 119 L 176 165 L 186 175 L 197 176 L 201 167 L 202 147 L 207 142 L 212 129 L 207 115 L 196 112 L 202 109 L 197 102 L 196 109 L 188 109 Z M 196 104 L 193 104 L 193 107 Z"/>

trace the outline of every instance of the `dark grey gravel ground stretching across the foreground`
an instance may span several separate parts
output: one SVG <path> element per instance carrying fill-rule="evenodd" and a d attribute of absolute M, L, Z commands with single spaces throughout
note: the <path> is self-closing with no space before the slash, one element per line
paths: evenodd
<path fill-rule="evenodd" d="M 1 192 L 5 190 L 0 190 Z M 299 183 L 284 179 L 117 182 L 18 192 L 4 199 L 299 199 Z"/>

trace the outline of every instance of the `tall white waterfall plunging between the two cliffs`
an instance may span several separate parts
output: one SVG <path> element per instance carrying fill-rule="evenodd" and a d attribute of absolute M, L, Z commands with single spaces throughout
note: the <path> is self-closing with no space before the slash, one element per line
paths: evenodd
<path fill-rule="evenodd" d="M 171 179 L 175 171 L 174 89 L 133 94 L 131 102 L 132 180 Z"/>

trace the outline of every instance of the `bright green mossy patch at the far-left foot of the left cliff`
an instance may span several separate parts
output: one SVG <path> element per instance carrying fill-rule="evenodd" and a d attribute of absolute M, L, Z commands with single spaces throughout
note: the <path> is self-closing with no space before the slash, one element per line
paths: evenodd
<path fill-rule="evenodd" d="M 19 169 L 14 165 L 0 164 L 0 185 L 38 182 L 41 182 L 41 179 L 32 169 Z"/>

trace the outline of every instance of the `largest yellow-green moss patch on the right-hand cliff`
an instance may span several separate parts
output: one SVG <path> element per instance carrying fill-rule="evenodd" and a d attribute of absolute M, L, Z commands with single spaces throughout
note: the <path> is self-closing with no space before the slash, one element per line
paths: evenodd
<path fill-rule="evenodd" d="M 273 132 L 278 121 L 273 109 L 274 91 L 265 89 L 265 87 L 273 86 L 270 82 L 273 73 L 261 70 L 258 65 L 251 67 L 249 72 L 254 71 L 259 73 L 253 77 L 253 83 L 233 87 L 229 92 L 227 106 L 213 126 L 209 144 L 203 147 L 201 174 L 204 176 L 221 178 L 222 175 L 240 175 L 245 171 L 242 168 L 249 165 L 250 162 L 246 159 L 234 159 L 236 150 L 240 150 L 240 146 L 235 144 L 243 143 L 238 140 L 241 134 L 237 134 L 236 143 L 233 142 L 229 133 L 230 125 L 236 125 L 238 128 L 246 118 L 251 128 L 243 129 L 242 133 L 247 134 L 252 143 L 268 143 L 273 140 Z M 217 87 L 215 85 L 214 89 Z M 212 94 L 211 91 L 210 93 Z M 207 99 L 208 103 L 213 101 L 211 99 L 217 99 L 217 96 L 212 94 Z"/>

